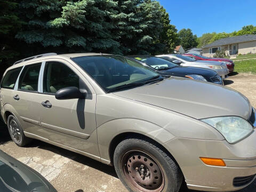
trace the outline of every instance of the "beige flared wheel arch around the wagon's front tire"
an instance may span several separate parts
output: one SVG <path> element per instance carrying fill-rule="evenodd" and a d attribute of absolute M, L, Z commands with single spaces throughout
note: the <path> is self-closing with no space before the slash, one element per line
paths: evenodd
<path fill-rule="evenodd" d="M 100 125 L 97 128 L 97 132 L 100 156 L 103 163 L 110 162 L 110 143 L 119 134 L 139 133 L 146 135 L 147 137 L 157 141 L 160 144 L 175 138 L 174 135 L 163 129 L 163 127 L 134 118 L 113 119 Z"/>

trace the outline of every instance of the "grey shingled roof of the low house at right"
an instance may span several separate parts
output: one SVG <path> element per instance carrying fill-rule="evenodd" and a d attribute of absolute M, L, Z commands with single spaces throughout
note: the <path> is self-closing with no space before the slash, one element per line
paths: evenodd
<path fill-rule="evenodd" d="M 210 43 L 209 45 L 203 46 L 203 48 L 228 45 L 232 43 L 241 43 L 241 42 L 247 42 L 247 41 L 253 41 L 253 40 L 256 41 L 256 35 L 240 35 L 240 36 L 219 39 L 217 41 Z"/>

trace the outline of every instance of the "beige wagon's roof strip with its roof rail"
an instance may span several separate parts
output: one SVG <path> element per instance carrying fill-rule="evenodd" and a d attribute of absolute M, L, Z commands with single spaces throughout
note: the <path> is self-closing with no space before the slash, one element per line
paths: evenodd
<path fill-rule="evenodd" d="M 35 55 L 30 58 L 25 58 L 23 60 L 17 61 L 11 67 L 7 68 L 7 70 L 14 69 L 17 67 L 22 67 L 30 62 L 40 62 L 43 59 L 70 59 L 76 57 L 84 57 L 84 56 L 95 56 L 95 55 L 111 55 L 106 53 L 67 53 L 67 54 L 56 54 L 56 53 L 45 53 L 42 55 Z M 39 56 L 39 57 L 38 57 Z"/>

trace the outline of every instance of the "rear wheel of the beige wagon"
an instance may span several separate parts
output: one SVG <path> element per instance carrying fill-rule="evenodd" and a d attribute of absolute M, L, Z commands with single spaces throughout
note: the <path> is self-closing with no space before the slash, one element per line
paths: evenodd
<path fill-rule="evenodd" d="M 18 119 L 13 115 L 9 115 L 7 119 L 7 126 L 8 126 L 10 136 L 16 145 L 23 147 L 23 146 L 26 146 L 31 141 L 30 138 L 27 138 L 24 135 Z M 14 129 L 15 131 L 13 131 Z"/>

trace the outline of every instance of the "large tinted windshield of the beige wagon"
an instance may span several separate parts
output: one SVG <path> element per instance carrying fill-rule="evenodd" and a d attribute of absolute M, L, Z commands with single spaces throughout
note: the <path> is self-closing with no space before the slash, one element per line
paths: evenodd
<path fill-rule="evenodd" d="M 97 55 L 72 58 L 106 92 L 122 85 L 145 82 L 159 74 L 139 62 L 118 55 Z M 139 84 L 138 84 L 139 85 Z"/>

